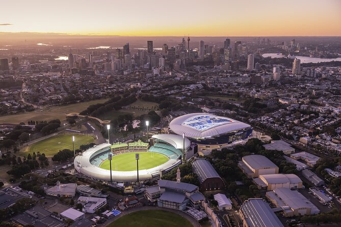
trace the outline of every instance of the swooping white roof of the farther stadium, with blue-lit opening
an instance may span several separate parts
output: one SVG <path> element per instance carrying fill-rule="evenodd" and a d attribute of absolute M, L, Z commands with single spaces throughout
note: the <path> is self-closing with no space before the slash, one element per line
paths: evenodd
<path fill-rule="evenodd" d="M 250 125 L 209 113 L 189 113 L 175 118 L 169 128 L 176 134 L 192 138 L 210 137 L 248 128 Z"/>

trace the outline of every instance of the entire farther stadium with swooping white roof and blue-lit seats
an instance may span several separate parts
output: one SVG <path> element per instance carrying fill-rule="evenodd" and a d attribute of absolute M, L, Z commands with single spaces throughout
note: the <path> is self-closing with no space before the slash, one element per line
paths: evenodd
<path fill-rule="evenodd" d="M 189 113 L 169 124 L 170 133 L 182 135 L 198 145 L 237 143 L 252 135 L 252 127 L 240 121 L 209 113 Z"/>

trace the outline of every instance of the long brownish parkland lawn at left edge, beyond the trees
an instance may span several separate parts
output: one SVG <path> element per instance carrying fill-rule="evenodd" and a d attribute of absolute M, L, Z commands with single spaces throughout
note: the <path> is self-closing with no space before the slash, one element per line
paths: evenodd
<path fill-rule="evenodd" d="M 28 123 L 29 121 L 50 121 L 59 119 L 65 121 L 65 114 L 70 112 L 81 112 L 89 105 L 96 103 L 104 103 L 109 99 L 98 99 L 88 102 L 78 102 L 65 106 L 56 106 L 49 109 L 37 109 L 32 112 L 19 113 L 17 115 L 6 115 L 0 117 L 0 123 L 19 124 L 20 122 Z"/>

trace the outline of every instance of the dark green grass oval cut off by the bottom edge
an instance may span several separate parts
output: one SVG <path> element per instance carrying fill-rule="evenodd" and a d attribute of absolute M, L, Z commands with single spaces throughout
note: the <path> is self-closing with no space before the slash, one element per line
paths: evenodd
<path fill-rule="evenodd" d="M 136 211 L 120 217 L 108 227 L 193 227 L 191 222 L 173 212 L 163 210 Z"/>

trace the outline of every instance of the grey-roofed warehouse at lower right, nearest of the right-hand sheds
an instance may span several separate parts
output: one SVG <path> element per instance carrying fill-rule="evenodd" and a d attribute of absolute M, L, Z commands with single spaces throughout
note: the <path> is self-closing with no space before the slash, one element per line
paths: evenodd
<path fill-rule="evenodd" d="M 266 196 L 276 207 L 282 208 L 285 217 L 320 213 L 315 205 L 296 190 L 276 188 L 268 191 Z"/>

